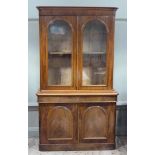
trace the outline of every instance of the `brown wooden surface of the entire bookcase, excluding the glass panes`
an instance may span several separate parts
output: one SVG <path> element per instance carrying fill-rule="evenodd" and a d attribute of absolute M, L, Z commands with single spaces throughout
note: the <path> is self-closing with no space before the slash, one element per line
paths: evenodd
<path fill-rule="evenodd" d="M 114 7 L 37 7 L 40 31 L 39 149 L 101 150 L 115 148 L 117 92 L 113 90 Z M 72 84 L 48 85 L 47 29 L 64 20 L 72 29 Z M 82 85 L 82 34 L 90 20 L 107 29 L 105 85 Z M 61 62 L 58 62 L 61 63 Z M 67 77 L 66 77 L 67 78 Z"/>

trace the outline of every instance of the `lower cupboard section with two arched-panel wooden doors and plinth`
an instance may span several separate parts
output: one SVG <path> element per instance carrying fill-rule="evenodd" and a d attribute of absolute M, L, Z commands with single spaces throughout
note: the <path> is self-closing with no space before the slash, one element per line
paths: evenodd
<path fill-rule="evenodd" d="M 39 117 L 40 150 L 114 148 L 115 103 L 43 103 Z"/>

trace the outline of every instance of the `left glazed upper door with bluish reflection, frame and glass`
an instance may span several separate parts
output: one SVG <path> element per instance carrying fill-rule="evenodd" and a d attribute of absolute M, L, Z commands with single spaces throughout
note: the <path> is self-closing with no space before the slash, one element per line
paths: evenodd
<path fill-rule="evenodd" d="M 76 18 L 46 16 L 42 25 L 42 86 L 54 90 L 75 89 Z"/>

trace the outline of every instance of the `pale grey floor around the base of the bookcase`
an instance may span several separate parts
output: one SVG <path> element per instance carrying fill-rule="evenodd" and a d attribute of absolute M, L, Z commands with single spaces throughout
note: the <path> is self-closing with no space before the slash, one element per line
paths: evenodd
<path fill-rule="evenodd" d="M 38 150 L 38 138 L 29 138 L 29 155 L 127 155 L 127 138 L 116 137 L 116 150 L 103 151 L 49 151 L 41 152 Z"/>

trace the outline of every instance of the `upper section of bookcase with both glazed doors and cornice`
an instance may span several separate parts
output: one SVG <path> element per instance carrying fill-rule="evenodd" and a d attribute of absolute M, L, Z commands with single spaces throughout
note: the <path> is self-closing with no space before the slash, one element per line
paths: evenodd
<path fill-rule="evenodd" d="M 112 89 L 116 8 L 39 9 L 41 90 Z"/>

